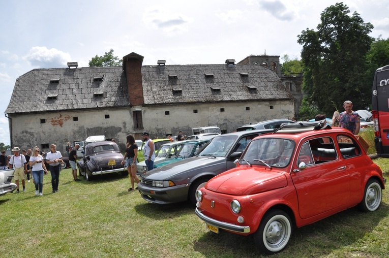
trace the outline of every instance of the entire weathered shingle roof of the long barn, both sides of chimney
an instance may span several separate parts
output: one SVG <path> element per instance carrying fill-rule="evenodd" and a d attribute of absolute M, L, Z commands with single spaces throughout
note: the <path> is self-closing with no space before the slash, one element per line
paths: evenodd
<path fill-rule="evenodd" d="M 293 98 L 257 64 L 142 66 L 141 73 L 146 106 Z M 34 69 L 16 80 L 5 113 L 125 107 L 128 94 L 122 67 Z"/>

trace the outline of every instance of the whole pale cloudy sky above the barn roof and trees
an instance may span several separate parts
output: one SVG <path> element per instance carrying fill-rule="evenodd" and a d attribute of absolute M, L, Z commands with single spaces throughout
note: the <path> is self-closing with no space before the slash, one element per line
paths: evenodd
<path fill-rule="evenodd" d="M 340 2 L 340 1 L 338 1 Z M 10 144 L 4 112 L 16 79 L 37 68 L 87 67 L 111 48 L 136 52 L 143 64 L 224 63 L 249 55 L 300 58 L 297 35 L 316 29 L 320 13 L 337 1 L 18 1 L 1 0 L 0 142 Z M 389 38 L 388 1 L 343 1 Z M 282 60 L 281 60 L 282 62 Z M 77 96 L 69 96 L 77 101 Z"/>

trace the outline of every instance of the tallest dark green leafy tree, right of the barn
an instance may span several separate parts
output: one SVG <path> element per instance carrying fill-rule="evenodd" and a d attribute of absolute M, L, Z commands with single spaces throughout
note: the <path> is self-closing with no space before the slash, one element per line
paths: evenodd
<path fill-rule="evenodd" d="M 354 109 L 364 109 L 371 103 L 371 83 L 366 79 L 366 54 L 374 41 L 370 23 L 350 11 L 343 3 L 326 8 L 321 13 L 317 31 L 303 30 L 297 42 L 301 52 L 304 81 L 308 99 L 320 112 L 331 116 L 350 100 Z"/>

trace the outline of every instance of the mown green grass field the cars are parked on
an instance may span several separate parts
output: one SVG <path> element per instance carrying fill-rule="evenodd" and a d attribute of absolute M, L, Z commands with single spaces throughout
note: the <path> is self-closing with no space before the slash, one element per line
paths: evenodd
<path fill-rule="evenodd" d="M 389 159 L 375 159 L 389 177 Z M 189 203 L 155 205 L 128 192 L 129 177 L 105 175 L 74 182 L 61 172 L 59 191 L 44 177 L 43 197 L 0 197 L 2 257 L 265 257 L 251 237 L 205 229 Z M 373 213 L 352 208 L 294 230 L 272 257 L 388 257 L 389 193 Z"/>

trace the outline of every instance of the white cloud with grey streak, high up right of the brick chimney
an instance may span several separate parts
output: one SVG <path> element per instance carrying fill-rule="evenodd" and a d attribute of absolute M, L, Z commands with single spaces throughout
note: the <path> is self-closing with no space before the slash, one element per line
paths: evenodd
<path fill-rule="evenodd" d="M 161 29 L 167 33 L 187 31 L 186 24 L 190 20 L 183 15 L 170 13 L 160 7 L 148 8 L 143 14 L 143 22 L 153 29 Z"/>

